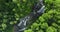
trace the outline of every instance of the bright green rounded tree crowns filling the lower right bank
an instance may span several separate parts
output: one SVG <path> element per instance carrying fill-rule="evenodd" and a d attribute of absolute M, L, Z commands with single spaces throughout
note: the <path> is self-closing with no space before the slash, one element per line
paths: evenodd
<path fill-rule="evenodd" d="M 34 22 L 31 27 L 29 27 L 30 29 L 32 29 L 33 31 L 38 32 L 40 29 L 46 32 L 57 32 L 59 31 L 60 28 L 60 16 L 59 14 L 57 14 L 57 12 L 59 12 L 58 10 L 50 10 L 47 13 L 44 13 L 42 16 L 40 16 L 36 22 Z M 45 15 L 45 16 L 44 16 Z M 59 17 L 57 17 L 57 15 Z M 34 29 L 35 28 L 35 29 Z M 36 29 L 37 28 L 37 29 Z"/>

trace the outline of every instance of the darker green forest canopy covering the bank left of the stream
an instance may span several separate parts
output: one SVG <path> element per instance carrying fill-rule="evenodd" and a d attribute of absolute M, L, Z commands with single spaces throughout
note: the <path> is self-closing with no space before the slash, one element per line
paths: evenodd
<path fill-rule="evenodd" d="M 7 32 L 20 18 L 32 11 L 32 6 L 36 2 L 36 0 L 0 0 L 0 31 Z"/>

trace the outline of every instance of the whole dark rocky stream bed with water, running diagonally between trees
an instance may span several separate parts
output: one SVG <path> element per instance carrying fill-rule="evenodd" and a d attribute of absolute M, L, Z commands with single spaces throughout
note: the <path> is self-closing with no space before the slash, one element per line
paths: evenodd
<path fill-rule="evenodd" d="M 42 15 L 45 11 L 45 6 L 43 5 L 43 0 L 39 0 L 39 2 L 34 7 L 33 11 L 25 16 L 24 18 L 21 18 L 19 23 L 14 26 L 14 32 L 23 32 L 28 25 L 30 25 L 32 22 L 30 20 L 35 19 Z"/>

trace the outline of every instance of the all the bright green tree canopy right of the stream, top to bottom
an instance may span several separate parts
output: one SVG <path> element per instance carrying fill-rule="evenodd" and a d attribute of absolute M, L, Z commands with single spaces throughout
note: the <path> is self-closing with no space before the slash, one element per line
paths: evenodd
<path fill-rule="evenodd" d="M 60 32 L 60 0 L 44 0 L 45 13 L 42 14 L 34 23 L 35 28 L 27 28 L 34 32 Z M 36 26 L 37 25 L 37 26 Z"/>

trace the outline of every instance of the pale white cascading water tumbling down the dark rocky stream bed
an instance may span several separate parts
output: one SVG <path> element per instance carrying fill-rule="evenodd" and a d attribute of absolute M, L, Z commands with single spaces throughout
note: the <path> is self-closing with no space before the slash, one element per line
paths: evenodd
<path fill-rule="evenodd" d="M 17 27 L 19 27 L 17 30 L 17 32 L 21 32 L 24 31 L 27 27 L 27 24 L 29 24 L 28 21 L 32 20 L 34 16 L 36 16 L 37 14 L 40 15 L 42 13 L 44 13 L 44 8 L 45 6 L 43 5 L 43 0 L 39 0 L 39 3 L 37 3 L 35 8 L 38 8 L 38 6 L 40 6 L 40 4 L 42 5 L 41 8 L 38 11 L 34 11 L 31 12 L 29 15 L 25 16 L 24 18 L 20 19 L 20 22 L 16 25 Z M 38 16 L 37 16 L 38 17 Z"/>

